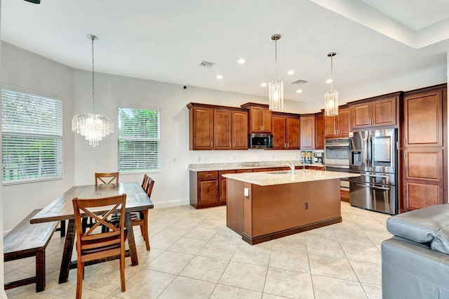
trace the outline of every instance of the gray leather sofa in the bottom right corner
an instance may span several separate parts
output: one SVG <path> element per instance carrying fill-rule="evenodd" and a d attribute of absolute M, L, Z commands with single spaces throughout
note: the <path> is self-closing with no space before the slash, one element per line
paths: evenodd
<path fill-rule="evenodd" d="M 382 242 L 382 298 L 449 299 L 449 205 L 387 220 Z"/>

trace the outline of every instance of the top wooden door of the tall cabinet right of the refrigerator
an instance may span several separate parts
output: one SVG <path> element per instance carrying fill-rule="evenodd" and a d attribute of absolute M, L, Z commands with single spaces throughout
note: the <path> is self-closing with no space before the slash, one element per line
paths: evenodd
<path fill-rule="evenodd" d="M 443 146 L 443 91 L 430 91 L 404 98 L 404 145 Z"/>

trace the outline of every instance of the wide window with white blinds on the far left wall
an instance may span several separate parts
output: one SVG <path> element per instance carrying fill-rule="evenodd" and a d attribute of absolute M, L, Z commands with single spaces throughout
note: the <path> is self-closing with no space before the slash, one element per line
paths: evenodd
<path fill-rule="evenodd" d="M 3 182 L 62 177 L 62 102 L 1 90 Z"/>

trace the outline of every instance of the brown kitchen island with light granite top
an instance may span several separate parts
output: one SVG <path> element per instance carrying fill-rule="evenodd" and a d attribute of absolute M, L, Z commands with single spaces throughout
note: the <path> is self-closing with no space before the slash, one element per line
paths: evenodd
<path fill-rule="evenodd" d="M 354 173 L 296 170 L 229 173 L 227 227 L 249 244 L 342 222 L 340 178 Z"/>

